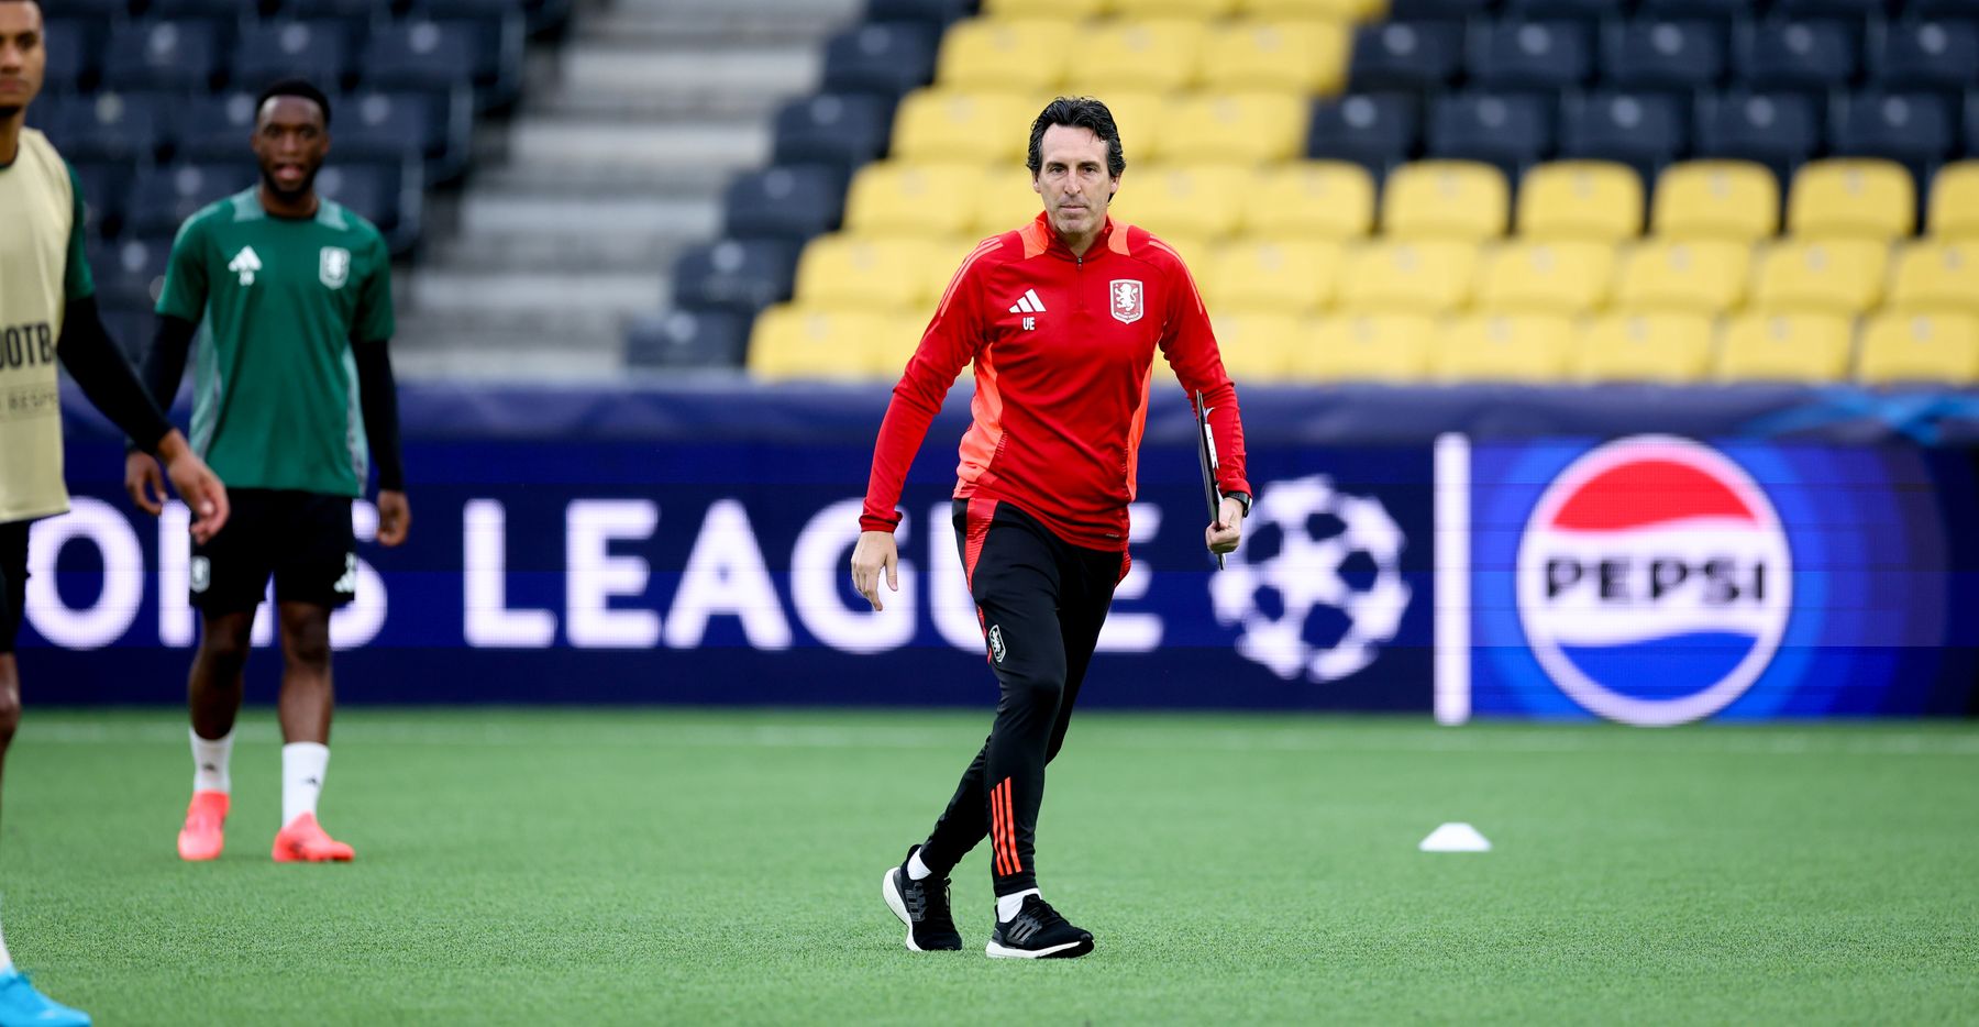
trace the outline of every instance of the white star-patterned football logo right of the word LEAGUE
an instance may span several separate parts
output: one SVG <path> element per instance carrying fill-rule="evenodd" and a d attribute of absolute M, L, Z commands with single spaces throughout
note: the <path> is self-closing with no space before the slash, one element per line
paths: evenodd
<path fill-rule="evenodd" d="M 1237 655 L 1284 681 L 1340 681 L 1401 627 L 1405 544 L 1375 499 L 1344 495 L 1324 475 L 1274 481 L 1211 576 L 1209 600 L 1219 623 L 1241 627 Z"/>

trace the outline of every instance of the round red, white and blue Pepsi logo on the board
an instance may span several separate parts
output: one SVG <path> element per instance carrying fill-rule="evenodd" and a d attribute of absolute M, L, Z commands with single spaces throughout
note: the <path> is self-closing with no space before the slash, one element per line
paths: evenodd
<path fill-rule="evenodd" d="M 1682 724 L 1765 673 L 1793 611 L 1787 532 L 1724 453 L 1637 435 L 1573 461 L 1518 544 L 1518 617 L 1581 706 Z"/>

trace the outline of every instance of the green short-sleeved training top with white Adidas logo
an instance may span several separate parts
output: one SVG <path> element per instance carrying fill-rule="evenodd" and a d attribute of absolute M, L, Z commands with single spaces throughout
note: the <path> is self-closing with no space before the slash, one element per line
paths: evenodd
<path fill-rule="evenodd" d="M 198 323 L 192 445 L 236 489 L 362 495 L 358 342 L 392 338 L 392 255 L 330 200 L 275 218 L 257 188 L 194 214 L 158 313 Z"/>

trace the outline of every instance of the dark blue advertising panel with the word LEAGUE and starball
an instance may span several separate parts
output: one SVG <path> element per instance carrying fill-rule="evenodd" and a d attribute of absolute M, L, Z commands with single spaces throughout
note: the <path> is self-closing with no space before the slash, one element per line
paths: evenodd
<path fill-rule="evenodd" d="M 993 702 L 950 526 L 958 418 L 936 423 L 902 497 L 900 594 L 875 613 L 851 592 L 877 420 L 811 439 L 408 443 L 410 542 L 370 544 L 376 513 L 356 511 L 338 695 Z M 1247 544 L 1213 574 L 1195 453 L 1168 435 L 1144 447 L 1132 572 L 1081 704 L 1427 710 L 1429 449 L 1261 447 Z M 79 473 L 121 463 L 115 443 L 71 439 L 75 511 L 36 526 L 34 700 L 182 700 L 196 641 L 184 511 L 152 520 L 107 473 Z M 269 623 L 257 641 L 273 641 Z M 273 649 L 253 659 L 249 695 L 273 695 L 277 667 Z"/>

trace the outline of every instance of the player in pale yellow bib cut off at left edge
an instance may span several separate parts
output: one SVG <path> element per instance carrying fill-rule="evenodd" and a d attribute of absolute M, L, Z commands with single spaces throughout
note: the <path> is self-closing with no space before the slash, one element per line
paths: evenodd
<path fill-rule="evenodd" d="M 164 421 L 97 317 L 81 186 L 55 146 L 26 127 L 46 61 L 40 4 L 0 0 L 0 760 L 20 724 L 14 635 L 28 594 L 28 526 L 69 509 L 55 364 L 166 461 L 198 514 L 194 538 L 212 538 L 228 518 L 220 479 Z M 0 1027 L 16 1023 L 87 1025 L 89 1015 L 36 991 L 0 942 Z"/>

